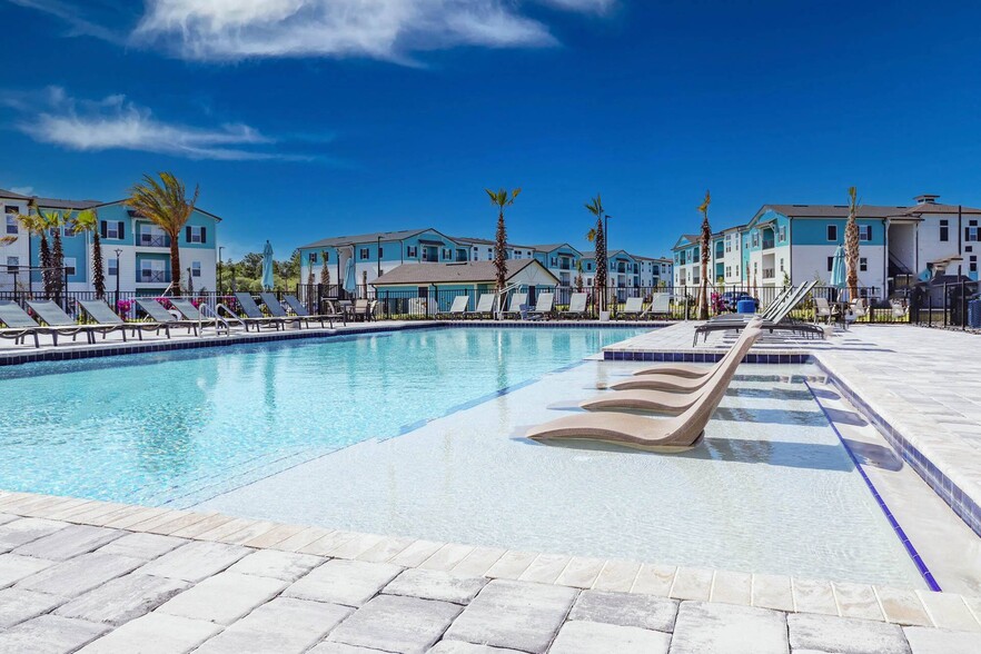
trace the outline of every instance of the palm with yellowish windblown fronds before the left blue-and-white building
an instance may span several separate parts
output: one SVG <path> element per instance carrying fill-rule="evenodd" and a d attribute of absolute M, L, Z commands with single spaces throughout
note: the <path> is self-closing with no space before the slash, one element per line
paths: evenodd
<path fill-rule="evenodd" d="M 143 175 L 143 181 L 129 190 L 126 204 L 170 237 L 170 272 L 174 288 L 180 293 L 180 230 L 195 210 L 200 187 L 195 186 L 195 195 L 188 200 L 182 181 L 170 172 L 160 172 L 159 176 L 160 181 L 157 181 L 152 176 Z"/>

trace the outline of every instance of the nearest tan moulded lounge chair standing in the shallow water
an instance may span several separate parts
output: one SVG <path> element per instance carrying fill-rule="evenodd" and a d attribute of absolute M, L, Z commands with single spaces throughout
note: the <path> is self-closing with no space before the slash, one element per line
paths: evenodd
<path fill-rule="evenodd" d="M 533 427 L 526 436 L 546 443 L 598 440 L 662 453 L 692 449 L 704 438 L 705 425 L 722 402 L 740 361 L 762 334 L 755 324 L 745 327 L 744 331 L 745 338 L 712 380 L 712 386 L 678 416 L 655 418 L 613 412 L 576 414 Z"/>

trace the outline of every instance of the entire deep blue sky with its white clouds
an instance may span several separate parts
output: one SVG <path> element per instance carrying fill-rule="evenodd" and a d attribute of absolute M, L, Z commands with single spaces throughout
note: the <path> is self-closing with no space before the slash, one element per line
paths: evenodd
<path fill-rule="evenodd" d="M 708 0 L 0 0 L 0 188 L 201 186 L 226 258 L 433 226 L 661 255 L 712 190 L 981 205 L 981 8 Z"/>

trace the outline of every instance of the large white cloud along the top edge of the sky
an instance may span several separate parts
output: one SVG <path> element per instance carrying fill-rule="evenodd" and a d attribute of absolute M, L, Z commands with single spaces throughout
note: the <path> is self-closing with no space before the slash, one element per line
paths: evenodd
<path fill-rule="evenodd" d="M 613 0 L 538 0 L 602 12 Z M 133 42 L 156 40 L 179 57 L 370 57 L 456 46 L 546 47 L 547 26 L 513 0 L 147 0 Z"/>

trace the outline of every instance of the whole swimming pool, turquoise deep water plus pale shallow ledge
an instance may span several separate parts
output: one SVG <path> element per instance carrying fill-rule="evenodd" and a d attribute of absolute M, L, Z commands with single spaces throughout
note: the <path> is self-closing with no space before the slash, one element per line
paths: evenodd
<path fill-rule="evenodd" d="M 806 385 L 744 365 L 680 455 L 537 445 L 631 328 L 438 328 L 0 370 L 0 487 L 924 587 Z M 816 379 L 815 379 L 816 380 Z"/>

